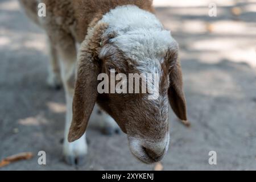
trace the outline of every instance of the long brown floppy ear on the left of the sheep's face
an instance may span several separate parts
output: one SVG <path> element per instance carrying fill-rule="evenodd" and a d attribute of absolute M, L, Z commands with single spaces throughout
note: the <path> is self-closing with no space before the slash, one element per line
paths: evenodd
<path fill-rule="evenodd" d="M 90 114 L 96 104 L 98 91 L 97 77 L 101 72 L 98 51 L 101 47 L 101 36 L 108 27 L 98 23 L 88 31 L 81 44 L 78 55 L 77 80 L 73 97 L 73 120 L 69 129 L 68 141 L 73 142 L 84 135 Z"/>

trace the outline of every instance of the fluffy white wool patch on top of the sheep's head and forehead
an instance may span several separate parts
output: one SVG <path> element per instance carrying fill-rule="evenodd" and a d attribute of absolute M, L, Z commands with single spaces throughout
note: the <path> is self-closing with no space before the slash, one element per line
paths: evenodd
<path fill-rule="evenodd" d="M 137 6 L 119 6 L 103 16 L 105 34 L 117 35 L 110 42 L 138 63 L 142 73 L 160 73 L 160 63 L 175 40 L 156 16 Z"/>

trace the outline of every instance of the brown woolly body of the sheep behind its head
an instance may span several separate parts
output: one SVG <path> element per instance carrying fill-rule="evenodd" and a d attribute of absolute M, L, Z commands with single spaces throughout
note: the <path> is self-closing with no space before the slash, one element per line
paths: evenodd
<path fill-rule="evenodd" d="M 136 5 L 147 11 L 154 11 L 152 1 L 146 0 L 19 0 L 27 15 L 43 27 L 54 42 L 63 40 L 63 36 L 72 35 L 81 43 L 89 27 L 117 6 Z M 47 16 L 38 16 L 38 4 L 45 3 Z"/>

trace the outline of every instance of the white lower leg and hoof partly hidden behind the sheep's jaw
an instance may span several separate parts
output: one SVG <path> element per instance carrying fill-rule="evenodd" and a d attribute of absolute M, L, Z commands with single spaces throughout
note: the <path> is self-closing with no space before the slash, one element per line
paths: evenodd
<path fill-rule="evenodd" d="M 92 123 L 96 123 L 103 134 L 113 135 L 119 134 L 121 132 L 121 129 L 114 121 L 114 119 L 110 117 L 110 115 L 106 114 L 105 111 L 102 111 L 97 105 L 94 108 L 94 111 L 96 112 L 96 118 Z"/>

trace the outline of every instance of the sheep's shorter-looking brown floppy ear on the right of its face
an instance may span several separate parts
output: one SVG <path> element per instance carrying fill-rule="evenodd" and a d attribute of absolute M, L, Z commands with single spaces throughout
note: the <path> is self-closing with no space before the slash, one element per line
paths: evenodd
<path fill-rule="evenodd" d="M 187 106 L 183 92 L 182 72 L 179 60 L 170 71 L 170 88 L 168 97 L 174 113 L 183 121 L 187 121 Z"/>

